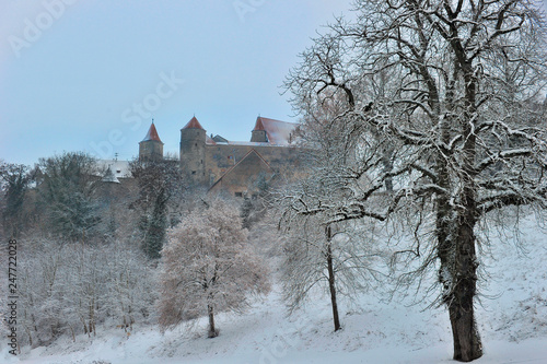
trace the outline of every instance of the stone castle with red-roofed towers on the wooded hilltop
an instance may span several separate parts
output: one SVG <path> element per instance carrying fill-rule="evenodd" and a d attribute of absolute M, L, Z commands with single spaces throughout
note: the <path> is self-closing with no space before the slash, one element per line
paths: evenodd
<path fill-rule="evenodd" d="M 196 117 L 181 129 L 181 168 L 191 185 L 236 197 L 254 196 L 257 184 L 271 181 L 299 165 L 298 125 L 258 117 L 251 141 L 207 136 Z M 163 158 L 163 142 L 152 121 L 139 143 L 139 161 Z"/>

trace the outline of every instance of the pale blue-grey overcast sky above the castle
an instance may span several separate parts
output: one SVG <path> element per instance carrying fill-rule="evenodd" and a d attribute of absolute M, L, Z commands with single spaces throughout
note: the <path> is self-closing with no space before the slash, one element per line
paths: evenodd
<path fill-rule="evenodd" d="M 194 116 L 248 141 L 296 121 L 279 87 L 350 0 L 1 0 L 0 158 L 85 151 L 129 160 L 154 118 L 165 152 Z"/>

